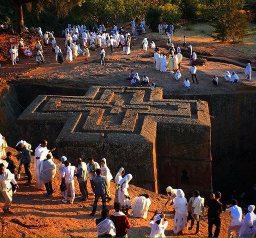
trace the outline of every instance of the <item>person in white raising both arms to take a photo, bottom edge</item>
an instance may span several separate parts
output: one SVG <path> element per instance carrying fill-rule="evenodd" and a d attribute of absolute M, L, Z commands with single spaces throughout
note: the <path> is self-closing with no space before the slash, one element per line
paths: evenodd
<path fill-rule="evenodd" d="M 156 210 L 154 216 L 150 219 L 149 225 L 151 227 L 149 237 L 166 237 L 164 231 L 168 226 L 168 221 L 165 219 L 163 212 L 158 214 Z"/>

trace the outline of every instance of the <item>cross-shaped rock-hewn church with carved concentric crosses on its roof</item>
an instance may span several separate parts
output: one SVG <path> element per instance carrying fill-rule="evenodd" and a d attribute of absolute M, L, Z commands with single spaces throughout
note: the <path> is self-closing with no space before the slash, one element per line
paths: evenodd
<path fill-rule="evenodd" d="M 210 192 L 207 102 L 163 100 L 162 88 L 92 86 L 85 96 L 38 96 L 18 118 L 24 140 L 48 140 L 58 156 L 107 158 L 134 183 Z"/>

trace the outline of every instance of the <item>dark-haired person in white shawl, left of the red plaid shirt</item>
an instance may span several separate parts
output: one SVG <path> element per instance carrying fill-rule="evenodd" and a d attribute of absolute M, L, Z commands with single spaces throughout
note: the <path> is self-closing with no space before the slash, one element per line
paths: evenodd
<path fill-rule="evenodd" d="M 108 219 L 109 210 L 104 209 L 101 212 L 101 218 L 96 219 L 98 237 L 114 237 L 116 236 L 116 228 L 114 222 Z"/>

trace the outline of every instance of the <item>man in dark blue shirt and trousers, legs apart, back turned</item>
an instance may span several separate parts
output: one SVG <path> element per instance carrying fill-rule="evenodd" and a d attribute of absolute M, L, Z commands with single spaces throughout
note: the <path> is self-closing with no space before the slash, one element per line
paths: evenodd
<path fill-rule="evenodd" d="M 106 177 L 102 176 L 101 169 L 96 170 L 97 176 L 92 179 L 95 186 L 95 198 L 90 216 L 94 216 L 97 209 L 98 200 L 102 199 L 102 210 L 106 209 L 106 186 L 108 186 Z"/>

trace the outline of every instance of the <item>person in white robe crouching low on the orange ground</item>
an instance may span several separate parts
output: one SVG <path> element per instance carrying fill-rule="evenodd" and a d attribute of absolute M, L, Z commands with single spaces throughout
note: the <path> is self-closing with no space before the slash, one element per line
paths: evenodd
<path fill-rule="evenodd" d="M 146 219 L 150 204 L 151 201 L 149 199 L 148 194 L 140 194 L 139 196 L 135 197 L 134 200 L 132 201 L 131 216 Z"/>

